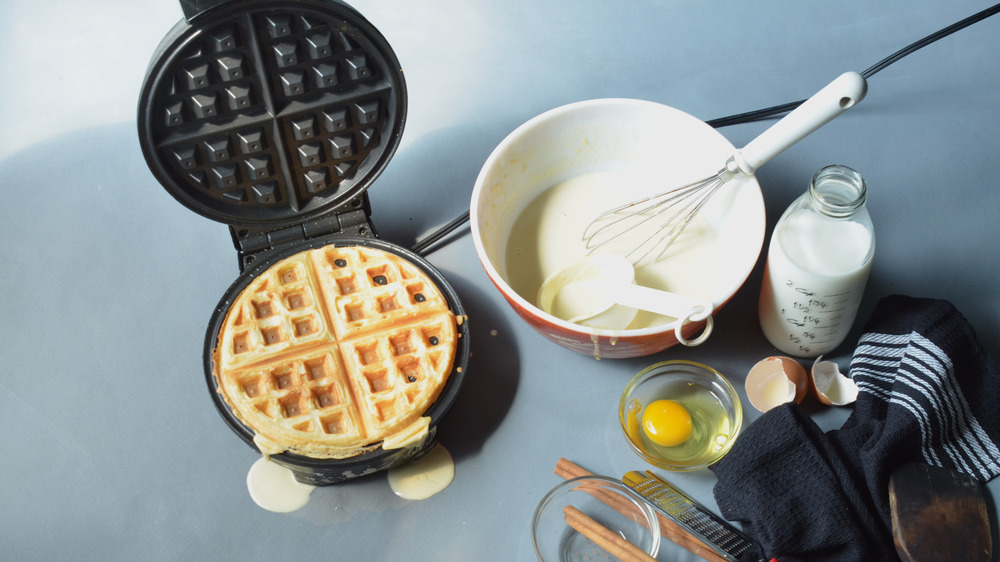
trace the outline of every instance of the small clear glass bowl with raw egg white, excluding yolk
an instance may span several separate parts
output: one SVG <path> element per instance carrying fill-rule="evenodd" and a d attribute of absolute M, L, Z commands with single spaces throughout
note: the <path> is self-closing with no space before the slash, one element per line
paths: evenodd
<path fill-rule="evenodd" d="M 691 416 L 691 435 L 675 446 L 648 438 L 642 427 L 650 403 L 673 400 Z M 664 361 L 642 370 L 625 387 L 618 419 L 633 451 L 646 462 L 677 472 L 705 468 L 732 448 L 743 423 L 736 389 L 721 373 L 693 361 Z"/>

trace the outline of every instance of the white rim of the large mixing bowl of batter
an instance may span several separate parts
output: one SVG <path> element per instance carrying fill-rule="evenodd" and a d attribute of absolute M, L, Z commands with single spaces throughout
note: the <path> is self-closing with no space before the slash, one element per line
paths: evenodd
<path fill-rule="evenodd" d="M 536 306 L 534 303 L 530 302 L 528 299 L 523 297 L 521 294 L 516 292 L 513 287 L 507 282 L 504 276 L 500 275 L 500 272 L 493 265 L 492 260 L 487 256 L 485 244 L 482 239 L 482 235 L 479 232 L 479 225 L 481 222 L 479 202 L 482 199 L 483 192 L 486 190 L 486 180 L 489 173 L 498 166 L 498 161 L 501 160 L 507 151 L 512 147 L 516 146 L 517 143 L 522 142 L 523 137 L 525 137 L 532 130 L 538 128 L 542 124 L 557 119 L 563 115 L 571 114 L 575 112 L 589 111 L 593 108 L 599 107 L 632 107 L 632 108 L 648 108 L 653 111 L 662 112 L 665 114 L 672 114 L 676 119 L 689 121 L 692 126 L 701 128 L 705 131 L 706 136 L 714 136 L 717 139 L 725 142 L 726 145 L 732 147 L 735 151 L 736 148 L 717 129 L 708 125 L 701 119 L 683 111 L 677 109 L 676 107 L 662 104 L 659 102 L 633 99 L 633 98 L 596 98 L 583 101 L 577 101 L 568 103 L 553 109 L 549 109 L 535 117 L 532 117 L 528 121 L 522 123 L 513 131 L 511 131 L 490 153 L 484 162 L 479 174 L 476 177 L 475 184 L 472 188 L 471 205 L 469 206 L 469 224 L 471 226 L 470 230 L 472 233 L 472 241 L 475 247 L 476 256 L 479 262 L 482 264 L 483 268 L 486 270 L 487 275 L 493 284 L 500 290 L 500 292 L 516 306 L 522 308 L 526 313 L 531 314 L 543 320 L 546 323 L 557 326 L 561 330 L 568 331 L 579 338 L 593 338 L 600 336 L 611 336 L 611 337 L 621 337 L 621 338 L 642 338 L 648 336 L 660 336 L 664 334 L 672 334 L 677 327 L 678 322 L 682 320 L 675 320 L 666 324 L 659 324 L 656 326 L 649 326 L 645 328 L 634 328 L 634 329 L 622 329 L 622 330 L 611 330 L 602 328 L 591 328 L 589 326 L 582 326 L 572 322 L 568 322 L 561 318 L 558 318 L 552 314 L 549 314 L 542 310 L 540 307 Z M 760 204 L 761 216 L 761 235 L 757 248 L 757 256 L 754 260 L 748 262 L 745 271 L 738 271 L 733 275 L 734 283 L 727 287 L 726 292 L 728 294 L 716 295 L 712 299 L 712 313 L 715 314 L 722 308 L 737 292 L 740 288 L 746 284 L 747 279 L 749 279 L 750 274 L 753 272 L 754 267 L 756 267 L 757 261 L 760 259 L 760 252 L 763 249 L 764 238 L 766 233 L 766 207 L 763 201 L 763 194 L 760 192 L 760 184 L 757 179 L 753 176 L 745 178 L 746 181 L 751 181 L 757 188 L 757 194 Z"/>

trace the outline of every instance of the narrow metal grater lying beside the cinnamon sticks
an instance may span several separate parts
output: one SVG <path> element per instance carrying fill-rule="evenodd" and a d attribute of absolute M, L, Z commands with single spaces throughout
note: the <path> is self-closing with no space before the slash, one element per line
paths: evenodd
<path fill-rule="evenodd" d="M 622 483 L 727 560 L 736 562 L 756 547 L 753 539 L 648 470 L 629 472 L 622 477 Z"/>

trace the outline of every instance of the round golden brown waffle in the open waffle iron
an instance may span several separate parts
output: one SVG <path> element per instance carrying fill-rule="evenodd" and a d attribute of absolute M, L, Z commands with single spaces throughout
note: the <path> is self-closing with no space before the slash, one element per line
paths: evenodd
<path fill-rule="evenodd" d="M 422 435 L 457 337 L 438 287 L 412 263 L 327 246 L 279 261 L 239 294 L 214 375 L 265 455 L 347 458 Z"/>

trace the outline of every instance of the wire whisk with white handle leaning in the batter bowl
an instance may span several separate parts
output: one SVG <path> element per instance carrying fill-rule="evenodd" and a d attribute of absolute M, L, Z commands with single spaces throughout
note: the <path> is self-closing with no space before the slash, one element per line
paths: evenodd
<path fill-rule="evenodd" d="M 638 263 L 657 248 L 662 255 L 729 180 L 752 176 L 757 168 L 788 147 L 854 107 L 864 99 L 867 91 L 868 84 L 863 76 L 846 72 L 733 153 L 714 175 L 601 213 L 583 232 L 589 253 L 648 225 L 651 233 L 641 240 L 622 239 L 629 247 L 625 256 L 632 263 Z"/>

